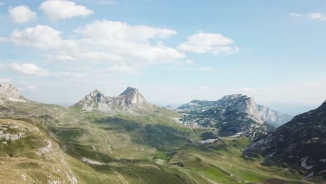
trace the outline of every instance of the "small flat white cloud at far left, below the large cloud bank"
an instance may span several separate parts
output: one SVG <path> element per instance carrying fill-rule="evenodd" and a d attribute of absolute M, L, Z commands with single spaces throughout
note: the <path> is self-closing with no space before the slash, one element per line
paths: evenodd
<path fill-rule="evenodd" d="M 36 66 L 33 63 L 11 63 L 10 68 L 16 72 L 22 72 L 26 75 L 47 76 L 50 72 Z"/>

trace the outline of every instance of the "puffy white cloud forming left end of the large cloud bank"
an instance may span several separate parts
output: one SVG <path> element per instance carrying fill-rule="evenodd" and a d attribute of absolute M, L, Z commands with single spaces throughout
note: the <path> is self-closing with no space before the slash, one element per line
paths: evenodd
<path fill-rule="evenodd" d="M 11 40 L 16 45 L 27 45 L 38 49 L 54 49 L 59 48 L 63 42 L 60 34 L 60 31 L 49 26 L 38 25 L 22 31 L 13 31 Z"/>

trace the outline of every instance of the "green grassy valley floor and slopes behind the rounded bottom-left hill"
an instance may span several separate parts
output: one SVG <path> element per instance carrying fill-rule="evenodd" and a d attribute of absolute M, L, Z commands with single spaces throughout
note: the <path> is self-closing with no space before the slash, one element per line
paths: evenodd
<path fill-rule="evenodd" d="M 249 141 L 245 137 L 224 138 L 210 146 L 196 144 L 205 130 L 175 123 L 172 118 L 179 115 L 166 109 L 143 116 L 108 116 L 73 107 L 13 103 L 2 108 L 0 115 L 33 120 L 29 124 L 52 135 L 52 141 L 65 150 L 65 160 L 79 183 L 257 183 L 270 179 L 281 183 L 302 177 L 292 170 L 263 167 L 261 159 L 242 158 L 240 149 Z M 103 165 L 87 164 L 81 157 Z M 183 162 L 184 167 L 176 162 Z"/>

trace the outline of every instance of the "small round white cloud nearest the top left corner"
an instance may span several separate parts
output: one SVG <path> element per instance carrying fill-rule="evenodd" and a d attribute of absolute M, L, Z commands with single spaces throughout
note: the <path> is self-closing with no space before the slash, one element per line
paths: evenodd
<path fill-rule="evenodd" d="M 36 12 L 33 12 L 28 6 L 16 6 L 14 8 L 9 8 L 8 13 L 10 15 L 11 22 L 26 23 L 36 20 Z"/>

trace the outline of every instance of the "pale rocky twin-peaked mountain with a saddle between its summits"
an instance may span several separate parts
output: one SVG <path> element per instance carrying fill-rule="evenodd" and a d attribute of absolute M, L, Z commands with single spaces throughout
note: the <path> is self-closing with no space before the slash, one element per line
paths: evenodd
<path fill-rule="evenodd" d="M 143 95 L 139 93 L 138 89 L 127 87 L 127 89 L 117 97 L 109 97 L 95 89 L 74 106 L 81 107 L 88 112 L 99 111 L 111 114 L 115 112 L 134 113 L 138 110 L 148 109 L 151 105 Z"/>

